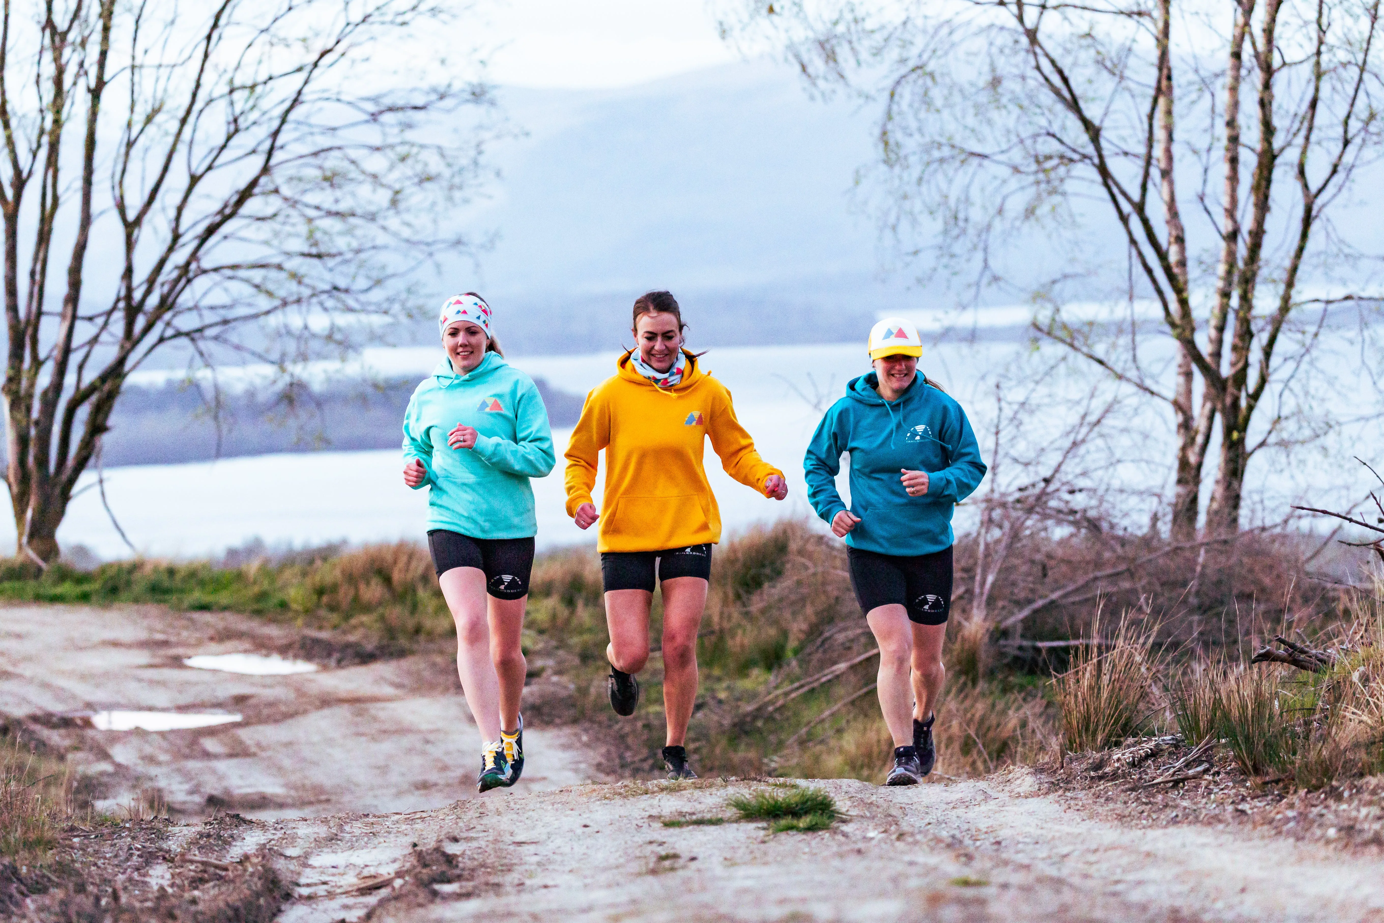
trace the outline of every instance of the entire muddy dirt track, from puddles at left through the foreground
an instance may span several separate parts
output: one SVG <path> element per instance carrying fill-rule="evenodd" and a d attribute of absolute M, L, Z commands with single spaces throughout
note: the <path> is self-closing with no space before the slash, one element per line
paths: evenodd
<path fill-rule="evenodd" d="M 174 807 L 69 830 L 53 881 L 28 870 L 32 888 L 11 888 L 25 922 L 1384 922 L 1370 780 L 1315 801 L 1230 774 L 1146 786 L 1174 747 L 1116 774 L 1068 757 L 912 789 L 803 782 L 846 812 L 815 833 L 670 828 L 732 818 L 732 794 L 782 780 L 591 782 L 581 729 L 534 721 L 520 787 L 473 797 L 475 732 L 441 653 L 233 677 L 174 664 L 284 650 L 292 632 L 152 609 L 0 619 L 0 710 L 75 747 L 107 803 L 158 785 Z M 533 714 L 563 689 L 545 671 Z M 61 720 L 107 704 L 234 707 L 245 722 L 151 735 Z"/>

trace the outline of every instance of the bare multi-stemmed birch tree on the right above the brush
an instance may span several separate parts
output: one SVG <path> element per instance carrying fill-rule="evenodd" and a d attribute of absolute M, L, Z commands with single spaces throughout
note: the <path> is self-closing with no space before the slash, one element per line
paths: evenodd
<path fill-rule="evenodd" d="M 1255 412 L 1302 360 L 1284 339 L 1355 298 L 1302 289 L 1312 260 L 1358 256 L 1330 214 L 1380 141 L 1378 0 L 722 6 L 728 36 L 767 30 L 815 86 L 882 104 L 886 224 L 912 242 L 940 223 L 915 256 L 995 284 L 1021 231 L 1078 255 L 1114 223 L 1131 299 L 1149 293 L 1176 343 L 1171 387 L 1107 363 L 1060 310 L 1035 327 L 1171 410 L 1175 540 L 1197 531 L 1219 423 L 1207 524 L 1239 529 L 1246 468 L 1280 423 L 1251 430 Z M 1064 263 L 1039 291 L 1088 273 Z"/>

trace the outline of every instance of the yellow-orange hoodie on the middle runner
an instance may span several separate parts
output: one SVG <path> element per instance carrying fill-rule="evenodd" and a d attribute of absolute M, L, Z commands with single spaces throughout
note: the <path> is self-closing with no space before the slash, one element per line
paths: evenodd
<path fill-rule="evenodd" d="M 663 551 L 721 540 L 721 512 L 706 483 L 706 437 L 735 480 L 764 493 L 783 472 L 754 451 L 735 419 L 731 392 L 691 353 L 682 381 L 657 387 L 620 357 L 617 372 L 587 394 L 567 444 L 567 515 L 594 502 L 597 459 L 606 450 L 598 551 Z"/>

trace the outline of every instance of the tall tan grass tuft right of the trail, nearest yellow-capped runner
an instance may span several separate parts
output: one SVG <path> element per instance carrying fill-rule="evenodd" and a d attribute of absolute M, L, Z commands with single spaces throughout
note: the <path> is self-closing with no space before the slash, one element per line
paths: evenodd
<path fill-rule="evenodd" d="M 1127 613 L 1110 638 L 1103 638 L 1100 628 L 1098 614 L 1091 641 L 1075 646 L 1070 668 L 1053 678 L 1063 746 L 1074 753 L 1102 750 L 1135 736 L 1151 714 L 1157 625 Z"/>

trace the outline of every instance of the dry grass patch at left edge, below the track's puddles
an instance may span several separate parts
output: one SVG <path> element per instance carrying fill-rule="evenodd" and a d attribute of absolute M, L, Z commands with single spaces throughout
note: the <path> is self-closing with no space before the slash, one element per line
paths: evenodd
<path fill-rule="evenodd" d="M 72 778 L 61 762 L 0 743 L 0 857 L 42 863 L 72 812 Z"/>

